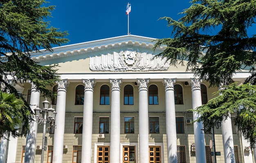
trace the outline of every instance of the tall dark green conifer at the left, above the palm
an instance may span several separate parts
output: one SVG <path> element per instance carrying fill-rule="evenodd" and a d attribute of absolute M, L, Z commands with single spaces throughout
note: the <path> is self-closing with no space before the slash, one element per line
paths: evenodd
<path fill-rule="evenodd" d="M 52 97 L 47 86 L 59 79 L 57 65 L 42 66 L 34 62 L 30 54 L 39 49 L 52 51 L 53 45 L 68 41 L 64 38 L 66 31 L 49 27 L 49 22 L 45 21 L 53 9 L 54 6 L 46 6 L 45 0 L 0 1 L 0 90 L 23 99 L 13 85 L 30 81 L 43 96 Z M 11 79 L 12 84 L 7 79 Z M 22 115 L 27 116 L 22 119 L 22 134 L 29 129 L 31 120 L 27 112 L 29 105 L 25 103 L 25 106 Z"/>

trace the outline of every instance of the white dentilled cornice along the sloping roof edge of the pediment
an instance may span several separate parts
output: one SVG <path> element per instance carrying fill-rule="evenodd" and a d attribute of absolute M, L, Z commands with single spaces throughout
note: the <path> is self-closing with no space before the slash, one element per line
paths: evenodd
<path fill-rule="evenodd" d="M 36 61 L 43 61 L 48 59 L 56 59 L 59 57 L 67 57 L 72 55 L 86 54 L 94 51 L 109 50 L 112 48 L 119 48 L 123 46 L 135 46 L 152 49 L 154 46 L 154 38 L 142 37 L 136 35 L 125 35 L 119 37 L 112 37 L 108 39 L 84 42 L 80 44 L 71 44 L 52 48 L 53 52 L 41 50 L 40 53 L 32 53 L 31 58 Z M 165 50 L 167 46 L 160 46 L 157 50 Z"/>

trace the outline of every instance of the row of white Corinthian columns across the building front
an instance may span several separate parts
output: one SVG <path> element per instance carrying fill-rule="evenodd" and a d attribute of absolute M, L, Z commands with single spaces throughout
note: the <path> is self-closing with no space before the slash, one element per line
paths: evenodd
<path fill-rule="evenodd" d="M 176 79 L 163 79 L 165 85 L 166 98 L 166 137 L 168 163 L 177 163 L 177 136 L 175 122 L 175 102 L 174 83 Z M 120 162 L 120 86 L 122 79 L 110 79 L 111 84 L 111 134 L 110 134 L 110 163 Z M 137 79 L 139 84 L 139 163 L 149 162 L 148 152 L 148 82 L 150 79 Z M 201 81 L 191 79 L 193 108 L 202 105 L 201 101 Z M 92 125 L 93 125 L 93 88 L 96 82 L 94 79 L 83 79 L 84 106 L 83 106 L 83 136 L 82 136 L 82 163 L 91 162 L 92 152 Z M 67 79 L 58 82 L 56 121 L 57 126 L 54 131 L 53 163 L 61 163 L 63 158 L 63 141 L 65 128 L 65 103 L 66 103 Z M 39 105 L 40 93 L 33 88 L 31 90 L 31 109 L 34 110 Z M 200 115 L 193 112 L 193 120 Z M 196 163 L 205 163 L 205 142 L 202 132 L 203 124 L 194 123 L 194 137 L 196 144 Z M 227 124 L 227 125 L 231 125 Z M 231 128 L 231 126 L 229 126 Z M 27 136 L 25 162 L 34 163 L 37 123 L 31 123 L 30 135 Z M 231 131 L 232 134 L 232 131 Z M 225 137 L 225 135 L 223 136 Z M 232 142 L 230 142 L 232 143 Z M 229 144 L 224 146 L 225 150 L 230 150 Z M 234 150 L 234 145 L 233 145 Z M 232 151 L 229 151 L 232 152 Z M 234 151 L 233 151 L 234 153 Z M 143 159 L 142 159 L 143 158 Z M 226 158 L 226 157 L 225 157 Z M 228 157 L 227 157 L 228 158 Z M 226 160 L 225 160 L 226 162 Z M 228 161 L 233 163 L 233 161 Z"/>

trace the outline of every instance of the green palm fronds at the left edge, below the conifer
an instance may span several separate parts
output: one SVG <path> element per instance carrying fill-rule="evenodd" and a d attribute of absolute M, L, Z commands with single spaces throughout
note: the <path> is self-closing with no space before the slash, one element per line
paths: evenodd
<path fill-rule="evenodd" d="M 22 99 L 17 99 L 13 93 L 0 91 L 0 137 L 7 138 L 10 132 L 19 136 L 20 123 L 26 121 L 29 115 L 30 112 L 24 107 Z"/>

